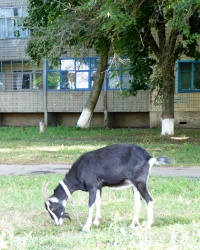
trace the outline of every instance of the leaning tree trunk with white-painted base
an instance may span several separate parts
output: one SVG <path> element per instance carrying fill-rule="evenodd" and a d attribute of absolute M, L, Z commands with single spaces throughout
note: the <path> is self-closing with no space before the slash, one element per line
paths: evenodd
<path fill-rule="evenodd" d="M 96 107 L 97 101 L 99 99 L 99 95 L 101 93 L 105 72 L 107 69 L 108 52 L 109 48 L 107 48 L 105 52 L 102 53 L 99 57 L 99 63 L 98 63 L 96 77 L 94 80 L 94 85 L 88 97 L 87 103 L 77 122 L 77 126 L 80 128 L 90 127 L 90 121 L 93 115 L 93 111 Z"/>

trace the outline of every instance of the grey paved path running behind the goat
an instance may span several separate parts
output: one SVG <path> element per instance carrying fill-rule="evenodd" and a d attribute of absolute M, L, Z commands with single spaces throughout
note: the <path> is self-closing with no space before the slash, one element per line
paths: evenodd
<path fill-rule="evenodd" d="M 67 164 L 40 164 L 40 165 L 7 165 L 0 164 L 0 175 L 27 175 L 27 174 L 65 174 L 71 165 Z M 200 178 L 200 167 L 156 167 L 151 170 L 151 175 L 159 176 L 184 176 Z"/>

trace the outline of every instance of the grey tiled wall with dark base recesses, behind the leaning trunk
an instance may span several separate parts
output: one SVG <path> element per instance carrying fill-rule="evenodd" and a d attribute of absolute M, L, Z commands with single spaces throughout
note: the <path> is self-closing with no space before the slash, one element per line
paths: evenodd
<path fill-rule="evenodd" d="M 106 93 L 106 98 L 105 98 Z M 49 125 L 73 127 L 85 106 L 89 91 L 0 92 L 1 125 L 38 125 L 47 116 Z M 91 120 L 92 127 L 105 126 L 105 110 L 109 127 L 149 127 L 148 92 L 125 98 L 120 91 L 102 92 Z"/>

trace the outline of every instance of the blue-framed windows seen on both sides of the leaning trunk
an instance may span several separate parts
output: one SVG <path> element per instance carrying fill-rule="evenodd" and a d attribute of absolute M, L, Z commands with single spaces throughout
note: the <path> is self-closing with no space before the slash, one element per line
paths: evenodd
<path fill-rule="evenodd" d="M 47 90 L 91 90 L 98 61 L 98 57 L 61 58 L 60 65 L 56 67 L 47 62 Z M 127 66 L 121 63 L 113 66 L 111 62 L 112 59 L 109 60 L 110 66 L 105 76 L 106 89 L 129 88 L 130 76 Z"/>

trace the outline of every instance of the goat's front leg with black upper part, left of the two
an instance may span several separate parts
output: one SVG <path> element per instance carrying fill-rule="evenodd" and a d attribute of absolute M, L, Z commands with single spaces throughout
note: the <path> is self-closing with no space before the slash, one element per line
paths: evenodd
<path fill-rule="evenodd" d="M 97 193 L 97 189 L 96 188 L 92 188 L 89 190 L 89 211 L 88 211 L 88 218 L 87 221 L 84 225 L 84 227 L 82 228 L 83 232 L 89 232 L 90 231 L 90 227 L 92 225 L 92 215 L 93 215 L 93 211 L 94 211 L 94 205 L 95 205 L 95 200 L 96 200 L 96 193 Z"/>

